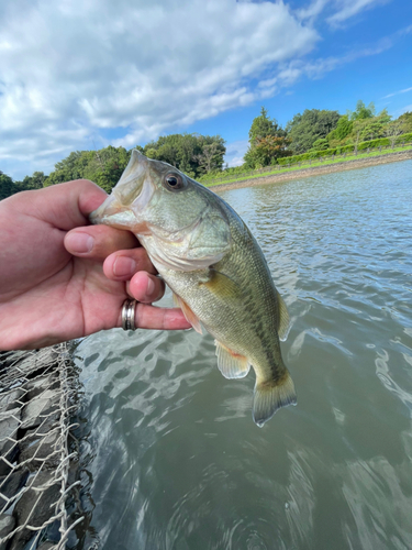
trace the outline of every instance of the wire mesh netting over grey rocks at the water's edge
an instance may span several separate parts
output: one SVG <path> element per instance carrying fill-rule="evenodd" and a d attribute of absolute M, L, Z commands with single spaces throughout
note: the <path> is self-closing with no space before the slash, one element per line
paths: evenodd
<path fill-rule="evenodd" d="M 0 354 L 0 550 L 65 549 L 83 520 L 69 510 L 77 391 L 66 343 Z"/>

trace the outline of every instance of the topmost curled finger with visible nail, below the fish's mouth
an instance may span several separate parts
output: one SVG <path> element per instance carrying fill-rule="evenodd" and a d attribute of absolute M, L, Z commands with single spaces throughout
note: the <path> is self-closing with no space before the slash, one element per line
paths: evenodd
<path fill-rule="evenodd" d="M 130 231 L 108 226 L 87 226 L 69 231 L 65 237 L 65 248 L 74 256 L 104 260 L 115 251 L 140 246 Z"/>

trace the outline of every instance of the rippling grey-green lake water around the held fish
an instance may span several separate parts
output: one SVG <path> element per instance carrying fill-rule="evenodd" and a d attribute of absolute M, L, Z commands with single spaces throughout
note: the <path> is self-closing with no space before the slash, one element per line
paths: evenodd
<path fill-rule="evenodd" d="M 298 406 L 256 427 L 253 373 L 223 378 L 208 334 L 83 340 L 88 537 L 104 550 L 411 549 L 412 161 L 222 196 L 288 305 Z"/>

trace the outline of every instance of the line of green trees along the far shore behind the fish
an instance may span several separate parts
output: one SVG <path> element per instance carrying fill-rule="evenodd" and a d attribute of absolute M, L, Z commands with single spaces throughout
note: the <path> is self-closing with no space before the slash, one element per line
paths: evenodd
<path fill-rule="evenodd" d="M 337 111 L 307 109 L 297 113 L 285 128 L 269 118 L 265 107 L 249 130 L 249 145 L 244 165 L 229 172 L 261 168 L 283 164 L 285 157 L 315 154 L 331 148 L 353 146 L 361 142 L 388 138 L 396 142 L 399 135 L 412 132 L 412 112 L 396 120 L 383 109 L 376 113 L 374 103 L 366 106 L 359 100 L 354 111 L 339 114 Z M 225 142 L 220 135 L 171 134 L 158 138 L 144 147 L 136 148 L 149 158 L 165 161 L 190 177 L 208 179 L 223 169 L 226 153 Z M 129 163 L 131 151 L 124 147 L 108 147 L 99 151 L 76 151 L 55 165 L 46 176 L 35 172 L 22 182 L 0 170 L 0 200 L 26 189 L 38 189 L 71 179 L 91 179 L 110 193 Z M 225 168 L 227 170 L 227 167 Z"/>

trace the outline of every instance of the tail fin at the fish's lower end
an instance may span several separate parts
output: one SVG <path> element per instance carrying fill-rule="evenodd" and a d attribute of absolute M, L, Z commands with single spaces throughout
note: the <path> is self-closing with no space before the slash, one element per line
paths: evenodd
<path fill-rule="evenodd" d="M 253 419 L 259 428 L 281 407 L 297 404 L 294 384 L 288 371 L 280 380 L 257 382 L 253 402 Z"/>

